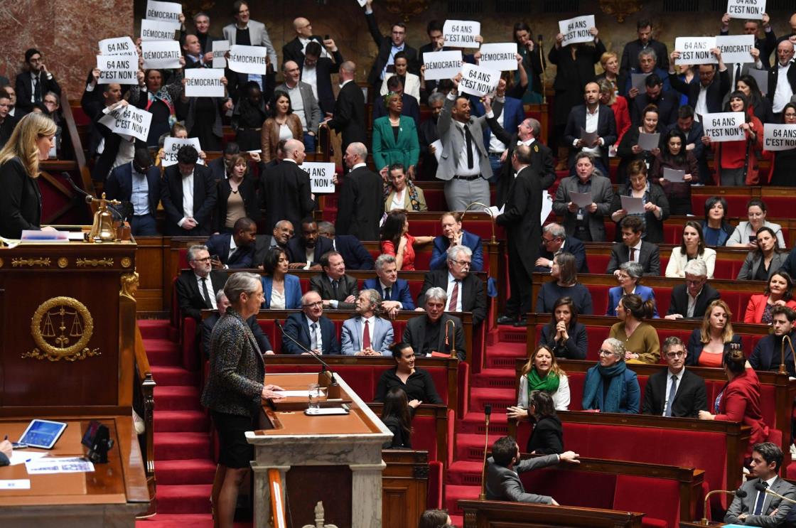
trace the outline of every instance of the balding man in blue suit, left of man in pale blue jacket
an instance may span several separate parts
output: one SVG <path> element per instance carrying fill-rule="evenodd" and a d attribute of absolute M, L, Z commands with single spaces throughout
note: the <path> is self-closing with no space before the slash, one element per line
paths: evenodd
<path fill-rule="evenodd" d="M 282 353 L 309 355 L 304 349 L 312 350 L 313 354 L 340 354 L 340 342 L 334 331 L 334 323 L 323 315 L 321 295 L 315 291 L 307 291 L 301 298 L 302 313 L 291 314 L 285 321 L 282 338 Z M 303 345 L 298 346 L 287 335 Z"/>

